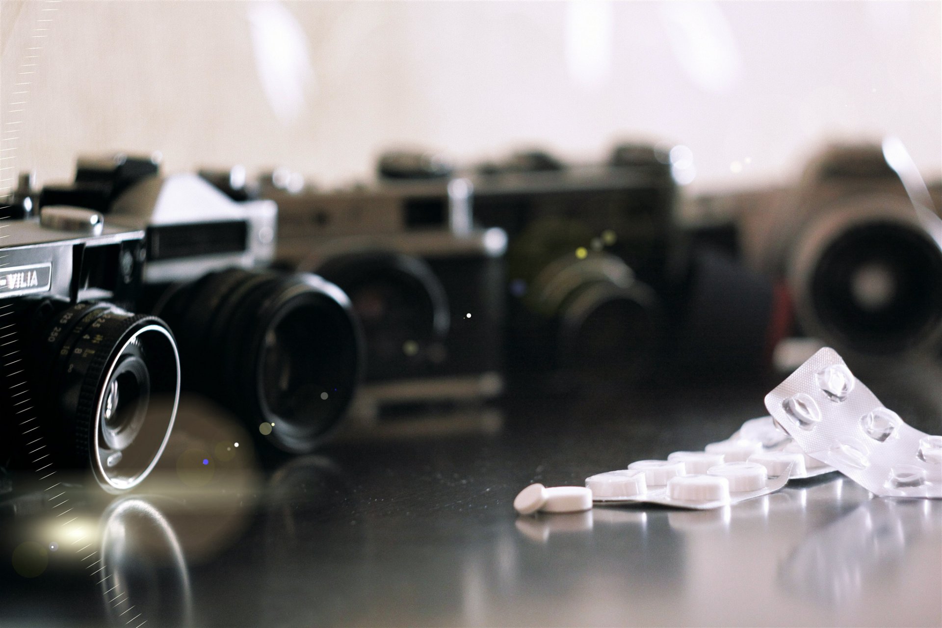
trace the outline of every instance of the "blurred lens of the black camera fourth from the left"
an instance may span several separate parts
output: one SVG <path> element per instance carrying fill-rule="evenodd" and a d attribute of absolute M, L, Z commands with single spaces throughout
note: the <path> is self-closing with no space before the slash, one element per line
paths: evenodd
<path fill-rule="evenodd" d="M 528 295 L 558 322 L 562 368 L 604 374 L 640 371 L 660 335 L 658 299 L 620 258 L 590 253 L 546 266 Z"/>

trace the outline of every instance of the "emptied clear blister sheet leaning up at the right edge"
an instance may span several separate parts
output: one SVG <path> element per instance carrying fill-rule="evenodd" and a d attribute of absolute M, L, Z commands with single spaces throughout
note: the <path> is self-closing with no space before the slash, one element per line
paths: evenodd
<path fill-rule="evenodd" d="M 942 498 L 942 436 L 908 426 L 886 409 L 834 349 L 820 349 L 765 404 L 804 454 L 868 491 Z"/>

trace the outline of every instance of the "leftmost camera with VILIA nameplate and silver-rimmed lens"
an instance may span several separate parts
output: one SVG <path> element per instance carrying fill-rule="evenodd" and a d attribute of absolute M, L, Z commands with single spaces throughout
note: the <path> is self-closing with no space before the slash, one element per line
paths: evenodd
<path fill-rule="evenodd" d="M 160 458 L 180 393 L 171 330 L 128 311 L 144 232 L 72 206 L 37 215 L 24 183 L 0 209 L 0 465 L 90 469 L 130 489 Z"/>

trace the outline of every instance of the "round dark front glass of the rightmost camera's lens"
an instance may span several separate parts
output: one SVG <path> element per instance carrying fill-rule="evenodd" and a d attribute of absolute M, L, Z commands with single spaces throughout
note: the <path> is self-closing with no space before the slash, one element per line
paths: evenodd
<path fill-rule="evenodd" d="M 826 246 L 812 272 L 821 325 L 857 350 L 904 350 L 942 326 L 942 250 L 916 227 L 854 226 Z"/>

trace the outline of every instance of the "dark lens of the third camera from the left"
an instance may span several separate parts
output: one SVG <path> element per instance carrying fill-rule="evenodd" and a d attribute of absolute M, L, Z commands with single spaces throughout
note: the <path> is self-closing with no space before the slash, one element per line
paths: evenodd
<path fill-rule="evenodd" d="M 402 378 L 434 365 L 449 327 L 445 288 L 424 261 L 394 252 L 335 257 L 317 269 L 349 295 L 363 325 L 366 378 Z"/>

